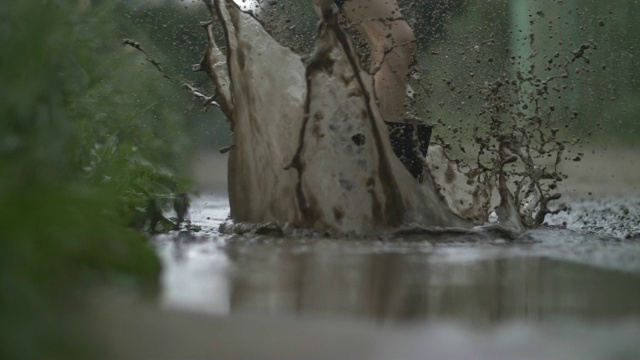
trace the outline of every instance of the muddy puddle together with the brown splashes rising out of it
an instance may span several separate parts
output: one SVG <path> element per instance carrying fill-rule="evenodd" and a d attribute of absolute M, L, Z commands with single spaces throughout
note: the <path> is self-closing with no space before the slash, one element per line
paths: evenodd
<path fill-rule="evenodd" d="M 186 317 L 158 323 L 164 330 L 154 336 L 174 341 L 167 349 L 151 342 L 146 357 L 640 358 L 640 197 L 579 193 L 564 167 L 571 159 L 584 164 L 585 150 L 576 156 L 569 147 L 580 139 L 557 136 L 569 118 L 556 102 L 571 90 L 566 79 L 590 73 L 595 43 L 572 41 L 563 57 L 553 55 L 560 60 L 541 55 L 547 65 L 539 73 L 540 59 L 527 53 L 538 46 L 533 35 L 516 36 L 503 59 L 508 71 L 477 82 L 443 78 L 444 97 L 464 101 L 438 105 L 447 114 L 424 106 L 430 110 L 419 118 L 440 125 L 432 142 L 442 150 L 429 150 L 429 176 L 416 182 L 392 153 L 372 100 L 374 80 L 354 60 L 357 42 L 346 40 L 352 32 L 336 11 L 322 13 L 315 47 L 302 54 L 230 2 L 206 4 L 212 21 L 195 69 L 215 84 L 212 99 L 233 144 L 228 159 L 202 168 L 227 178 L 226 168 L 229 180 L 218 184 L 225 195 L 194 199 L 198 231 L 153 238 L 164 271 L 162 310 L 149 317 Z M 526 23 L 534 21 L 520 32 L 532 31 Z M 221 47 L 216 31 L 224 34 Z M 494 43 L 493 34 L 480 43 L 487 49 L 461 41 L 456 54 L 473 63 L 463 67 L 469 78 Z M 456 81 L 469 85 L 458 90 Z M 437 86 L 428 85 L 424 96 L 435 101 L 427 88 Z M 473 151 L 462 146 L 472 143 Z M 477 156 L 456 160 L 451 144 Z M 637 194 L 635 180 L 612 183 L 629 166 L 608 173 L 600 165 L 583 171 L 597 188 Z M 236 224 L 292 226 L 223 233 L 230 215 Z M 516 231 L 468 230 L 496 221 Z M 407 231 L 415 224 L 429 231 Z"/>

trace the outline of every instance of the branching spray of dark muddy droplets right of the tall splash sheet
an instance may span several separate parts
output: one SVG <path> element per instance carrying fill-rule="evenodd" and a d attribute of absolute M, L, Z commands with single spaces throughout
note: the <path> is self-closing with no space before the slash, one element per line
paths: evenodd
<path fill-rule="evenodd" d="M 535 41 L 531 39 L 528 44 L 533 47 Z M 588 53 L 596 48 L 592 42 L 582 44 L 564 61 L 556 53 L 544 69 L 555 74 L 546 77 L 536 71 L 535 66 L 521 70 L 521 63 L 533 61 L 533 58 L 514 56 L 511 66 L 518 69 L 515 76 L 503 75 L 478 88 L 465 90 L 480 95 L 482 101 L 478 114 L 481 124 L 473 127 L 472 136 L 477 155 L 475 163 L 450 162 L 465 168 L 464 176 L 460 176 L 464 180 L 486 184 L 488 193 L 476 198 L 483 199 L 484 204 L 466 202 L 460 213 L 473 213 L 477 216 L 474 219 L 480 219 L 483 209 L 490 209 L 499 198 L 495 212 L 500 223 L 530 228 L 541 225 L 547 215 L 565 210 L 563 206 L 555 210 L 550 208 L 550 203 L 561 198 L 557 189 L 566 178 L 559 170 L 559 164 L 562 160 L 580 161 L 582 154 L 575 158 L 565 156 L 566 148 L 580 140 L 561 138 L 558 127 L 563 121 L 549 98 L 560 97 L 566 88 L 563 81 L 571 77 L 570 66 L 579 60 L 588 65 Z M 451 86 L 455 88 L 455 85 Z M 573 112 L 571 116 L 575 118 L 578 113 Z M 451 150 L 451 140 L 437 136 L 436 141 Z M 434 160 L 429 162 L 436 163 Z M 444 175 L 440 174 L 442 177 Z M 452 200 L 464 195 L 450 187 L 446 193 Z M 492 193 L 497 193 L 498 197 Z M 451 202 L 451 206 L 457 203 Z"/>

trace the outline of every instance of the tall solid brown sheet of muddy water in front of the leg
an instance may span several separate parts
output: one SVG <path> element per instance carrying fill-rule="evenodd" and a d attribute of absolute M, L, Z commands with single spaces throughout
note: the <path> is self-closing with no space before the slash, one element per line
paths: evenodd
<path fill-rule="evenodd" d="M 216 100 L 233 130 L 229 200 L 236 222 L 372 233 L 485 221 L 494 184 L 470 181 L 438 149 L 430 150 L 430 168 L 419 184 L 393 154 L 371 96 L 372 79 L 334 7 L 324 8 L 312 54 L 300 56 L 232 2 L 207 4 L 222 24 L 226 54 L 209 23 L 198 68 L 216 84 Z M 465 201 L 443 197 L 444 189 L 462 184 Z M 501 225 L 523 229 L 514 197 L 499 185 Z"/>

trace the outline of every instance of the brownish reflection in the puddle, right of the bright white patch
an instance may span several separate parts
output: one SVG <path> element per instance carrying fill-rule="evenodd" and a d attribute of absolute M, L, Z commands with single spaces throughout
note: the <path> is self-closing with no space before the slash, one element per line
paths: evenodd
<path fill-rule="evenodd" d="M 438 252 L 296 254 L 231 246 L 233 312 L 454 319 L 473 324 L 640 315 L 640 278 L 545 258 L 448 261 Z M 481 251 L 481 250 L 477 250 Z"/>

